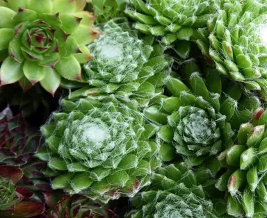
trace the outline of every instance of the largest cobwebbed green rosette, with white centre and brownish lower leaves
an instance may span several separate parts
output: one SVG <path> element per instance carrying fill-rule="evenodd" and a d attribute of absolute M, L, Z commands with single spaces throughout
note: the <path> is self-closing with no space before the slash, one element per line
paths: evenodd
<path fill-rule="evenodd" d="M 161 165 L 153 140 L 157 127 L 115 97 L 61 102 L 62 112 L 42 126 L 47 146 L 36 156 L 47 160 L 56 177 L 53 189 L 64 189 L 107 202 L 134 196 L 150 183 Z"/>

